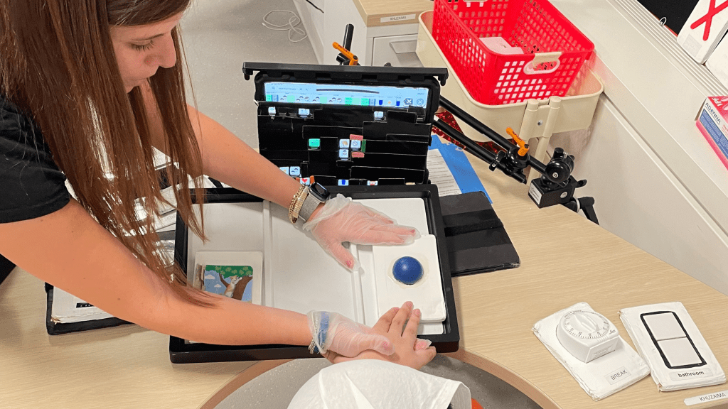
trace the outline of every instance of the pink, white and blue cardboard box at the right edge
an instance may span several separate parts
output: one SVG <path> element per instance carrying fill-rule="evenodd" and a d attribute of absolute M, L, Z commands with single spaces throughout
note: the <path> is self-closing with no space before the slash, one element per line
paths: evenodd
<path fill-rule="evenodd" d="M 728 96 L 706 98 L 695 123 L 728 169 Z"/>

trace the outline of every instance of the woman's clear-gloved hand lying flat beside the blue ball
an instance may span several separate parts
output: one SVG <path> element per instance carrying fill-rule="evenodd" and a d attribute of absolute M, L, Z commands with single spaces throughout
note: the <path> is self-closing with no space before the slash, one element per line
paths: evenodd
<path fill-rule="evenodd" d="M 311 231 L 326 253 L 352 271 L 359 269 L 359 261 L 344 248 L 344 242 L 408 245 L 419 238 L 419 231 L 414 227 L 400 226 L 386 215 L 341 194 L 328 200 L 317 215 L 304 223 L 303 229 Z"/>

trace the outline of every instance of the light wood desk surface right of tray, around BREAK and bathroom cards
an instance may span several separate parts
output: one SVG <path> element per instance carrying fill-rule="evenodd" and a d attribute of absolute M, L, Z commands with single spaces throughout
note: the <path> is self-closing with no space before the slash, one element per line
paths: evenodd
<path fill-rule="evenodd" d="M 487 172 L 483 162 L 471 162 L 521 255 L 521 267 L 454 279 L 462 339 L 455 357 L 499 376 L 545 409 L 684 408 L 687 397 L 728 389 L 722 384 L 658 392 L 647 376 L 593 402 L 531 332 L 539 319 L 586 302 L 634 346 L 619 319 L 620 309 L 681 301 L 727 370 L 728 296 L 566 207 L 539 210 L 526 197 L 525 185 Z M 725 400 L 719 405 L 728 408 Z"/>

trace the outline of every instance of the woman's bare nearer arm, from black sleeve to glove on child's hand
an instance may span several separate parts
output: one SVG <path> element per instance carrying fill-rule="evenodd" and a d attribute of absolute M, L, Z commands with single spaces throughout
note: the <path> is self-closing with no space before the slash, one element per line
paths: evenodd
<path fill-rule="evenodd" d="M 211 298 L 179 299 L 78 204 L 41 218 L 0 223 L 0 253 L 50 284 L 138 325 L 210 344 L 306 345 L 304 314 Z"/>

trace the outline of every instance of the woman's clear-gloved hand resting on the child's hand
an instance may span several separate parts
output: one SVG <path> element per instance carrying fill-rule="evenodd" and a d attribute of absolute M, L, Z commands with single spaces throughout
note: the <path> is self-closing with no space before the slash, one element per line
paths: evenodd
<path fill-rule="evenodd" d="M 317 352 L 336 352 L 344 357 L 355 357 L 369 349 L 384 355 L 395 352 L 389 339 L 375 333 L 371 327 L 354 322 L 335 312 L 310 311 L 309 330 Z M 316 352 L 316 351 L 313 351 Z"/>

